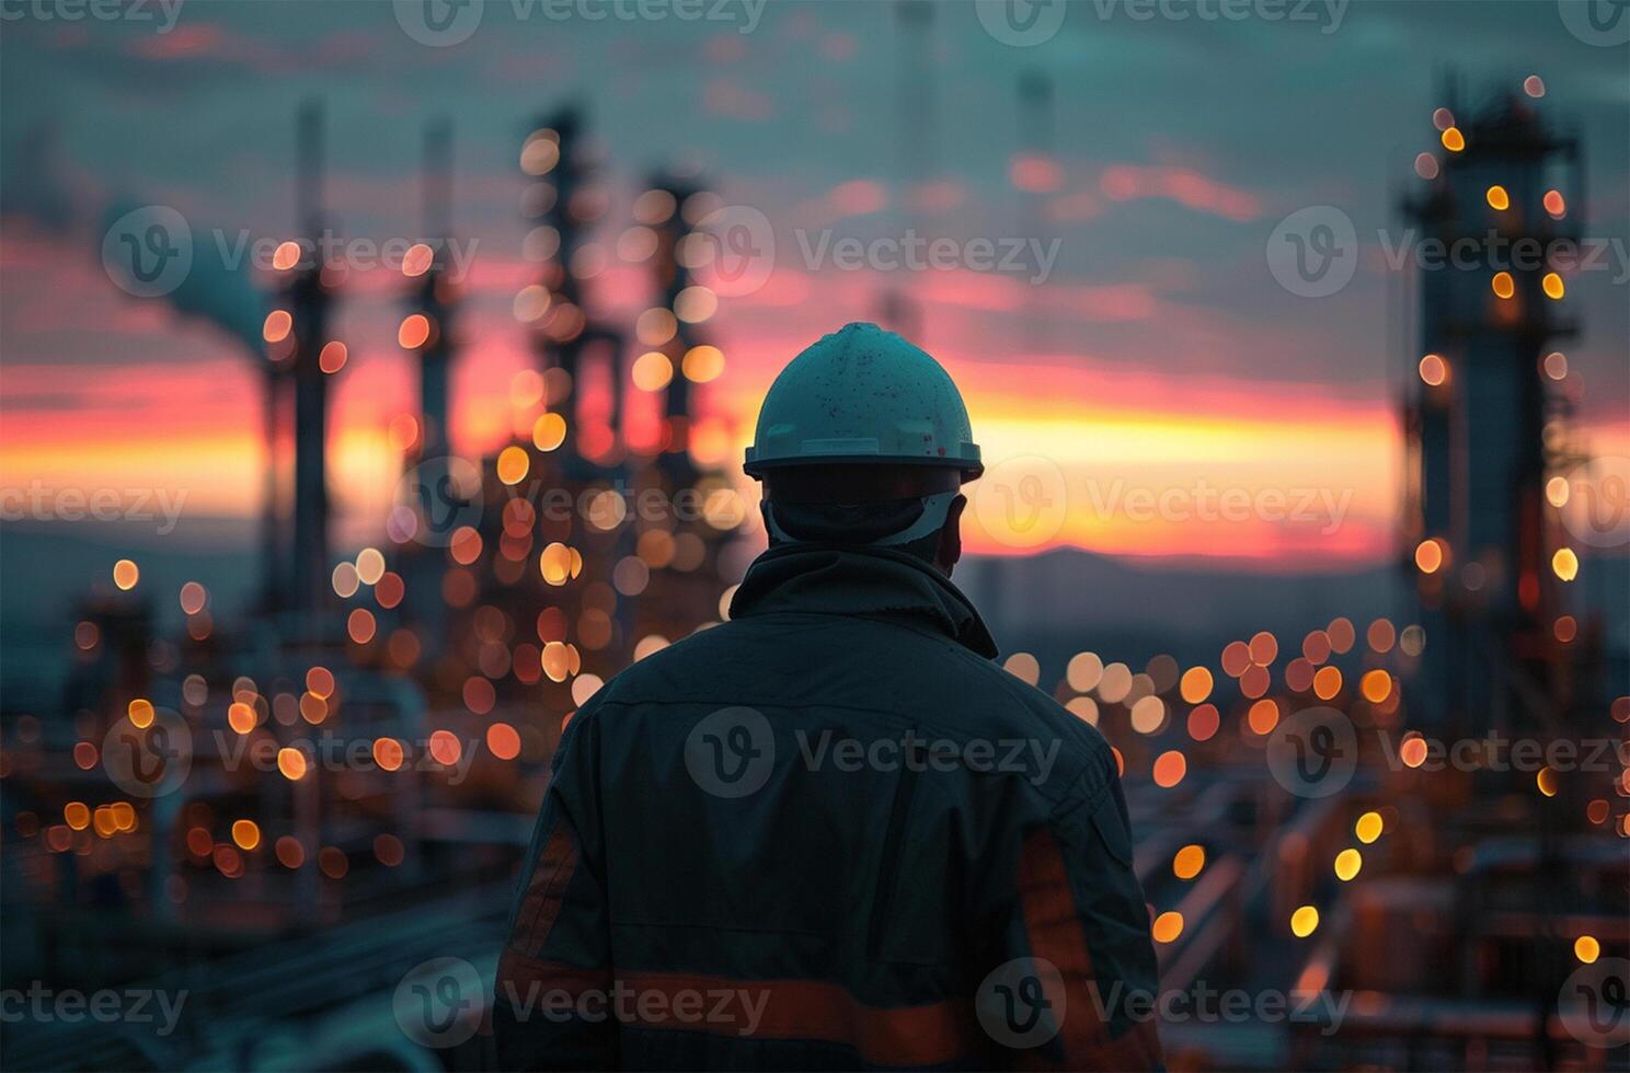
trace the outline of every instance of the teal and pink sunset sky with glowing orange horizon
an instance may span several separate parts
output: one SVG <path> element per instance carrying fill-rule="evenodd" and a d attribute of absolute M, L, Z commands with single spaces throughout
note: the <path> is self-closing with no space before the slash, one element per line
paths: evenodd
<path fill-rule="evenodd" d="M 611 199 L 597 234 L 606 267 L 585 283 L 605 316 L 628 324 L 652 298 L 618 238 L 654 169 L 699 168 L 725 204 L 773 225 L 764 285 L 703 326 L 727 357 L 701 391 L 712 456 L 738 462 L 786 360 L 879 319 L 898 291 L 919 303 L 918 342 L 962 384 L 993 471 L 1025 456 L 1006 472 L 1066 497 L 1042 547 L 1252 570 L 1379 562 L 1399 500 L 1397 392 L 1418 358 L 1412 272 L 1390 269 L 1386 247 L 1405 226 L 1412 160 L 1438 148 L 1444 65 L 1472 99 L 1544 77 L 1537 106 L 1584 140 L 1584 234 L 1630 233 L 1625 50 L 1579 41 L 1555 3 L 1482 5 L 1475 20 L 1456 7 L 1364 2 L 1320 24 L 1141 21 L 1077 3 L 1053 39 L 1014 47 L 971 5 L 947 3 L 919 57 L 885 3 L 595 21 L 494 0 L 445 47 L 416 41 L 390 3 L 192 0 L 168 33 L 158 7 L 152 21 L 24 10 L 0 24 L 0 484 L 166 488 L 186 493 L 189 516 L 258 510 L 248 348 L 126 295 L 98 249 L 116 204 L 173 207 L 199 244 L 217 228 L 289 238 L 293 119 L 311 96 L 328 106 L 336 230 L 378 243 L 422 238 L 421 130 L 453 120 L 453 231 L 471 249 L 453 443 L 494 451 L 536 412 L 512 401 L 531 366 L 512 301 L 535 270 L 520 145 L 540 114 L 582 101 Z M 1046 160 L 1019 134 L 1015 86 L 1032 68 L 1055 85 Z M 1361 239 L 1356 277 L 1328 298 L 1291 295 L 1263 254 L 1309 205 L 1341 208 Z M 846 270 L 805 254 L 822 236 L 906 228 L 958 243 L 1035 234 L 1056 239 L 1056 262 L 1032 283 L 1033 270 Z M 1627 274 L 1617 261 L 1568 280 L 1584 324 L 1568 347 L 1581 425 L 1615 454 L 1630 454 Z M 339 304 L 350 360 L 331 394 L 333 493 L 355 539 L 380 529 L 399 474 L 388 425 L 414 405 L 394 331 L 404 295 L 396 272 L 355 270 Z M 1311 506 L 1283 521 L 1126 510 L 1131 490 L 1196 487 Z M 999 505 L 975 506 L 973 550 L 1030 550 L 985 531 Z"/>

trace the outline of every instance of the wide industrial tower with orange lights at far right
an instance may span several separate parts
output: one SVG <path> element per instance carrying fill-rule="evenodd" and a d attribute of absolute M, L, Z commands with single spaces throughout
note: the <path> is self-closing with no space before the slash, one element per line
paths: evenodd
<path fill-rule="evenodd" d="M 1423 251 L 1477 251 L 1475 265 L 1421 261 L 1403 409 L 1403 565 L 1426 630 L 1415 703 L 1423 725 L 1469 734 L 1509 725 L 1514 703 L 1545 723 L 1570 703 L 1558 622 L 1578 557 L 1547 482 L 1570 464 L 1557 381 L 1578 326 L 1550 254 L 1578 236 L 1579 148 L 1529 86 L 1467 120 L 1451 94 L 1443 151 L 1416 158 L 1426 189 L 1405 199 Z"/>

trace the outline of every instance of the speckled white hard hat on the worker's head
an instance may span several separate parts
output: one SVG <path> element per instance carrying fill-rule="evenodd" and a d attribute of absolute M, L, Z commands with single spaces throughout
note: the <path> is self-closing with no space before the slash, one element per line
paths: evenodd
<path fill-rule="evenodd" d="M 985 472 L 950 374 L 900 335 L 856 322 L 781 370 L 743 469 L 869 462 L 944 466 L 963 480 Z"/>

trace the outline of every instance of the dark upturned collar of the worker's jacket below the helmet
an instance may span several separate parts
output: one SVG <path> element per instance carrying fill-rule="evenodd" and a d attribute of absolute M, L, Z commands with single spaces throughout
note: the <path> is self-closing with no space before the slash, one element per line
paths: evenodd
<path fill-rule="evenodd" d="M 781 611 L 859 615 L 926 625 L 996 658 L 996 642 L 968 598 L 914 555 L 880 547 L 773 547 L 748 567 L 730 617 Z"/>

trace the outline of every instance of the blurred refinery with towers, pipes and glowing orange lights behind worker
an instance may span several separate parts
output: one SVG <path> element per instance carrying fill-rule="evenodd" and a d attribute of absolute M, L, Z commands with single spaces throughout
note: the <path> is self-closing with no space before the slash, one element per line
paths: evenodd
<path fill-rule="evenodd" d="M 929 18 L 900 10 L 908 29 Z M 903 129 L 926 142 L 914 93 Z M 1579 143 L 1542 96 L 1531 78 L 1462 116 L 1449 93 L 1408 218 L 1443 238 L 1576 234 Z M 1025 168 L 1045 173 L 1050 85 L 1027 75 L 1019 99 Z M 315 236 L 316 106 L 298 130 L 297 221 Z M 455 151 L 450 127 L 427 129 L 427 236 L 456 226 Z M 724 368 L 706 335 L 717 298 L 691 274 L 717 199 L 694 174 L 650 177 L 618 230 L 654 298 L 611 324 L 579 270 L 608 225 L 585 112 L 536 122 L 520 166 L 536 264 L 515 295 L 536 355 L 525 435 L 479 462 L 448 454 L 460 295 L 438 247 L 414 246 L 401 495 L 385 541 L 336 558 L 324 407 L 346 280 L 285 243 L 256 355 L 274 459 L 259 612 L 217 622 L 204 586 L 150 594 L 140 563 L 111 563 L 112 588 L 64 638 L 78 663 L 62 710 L 5 712 L 7 987 L 189 993 L 171 1036 L 8 1026 L 8 1065 L 478 1063 L 479 1037 L 432 1050 L 398 1031 L 391 992 L 432 957 L 491 977 L 562 721 L 629 661 L 717 622 L 755 547 L 750 505 L 688 451 L 694 386 Z M 1222 1019 L 1190 1001 L 1162 1027 L 1172 1068 L 1623 1068 L 1630 1044 L 1581 1039 L 1558 1005 L 1578 970 L 1630 954 L 1630 669 L 1571 599 L 1584 567 L 1560 511 L 1584 456 L 1562 300 L 1544 269 L 1420 274 L 1400 314 L 1416 326 L 1395 614 L 1218 638 L 1214 663 L 1188 666 L 1079 651 L 1056 679 L 1007 656 L 1117 749 L 1162 987 L 1283 998 Z M 903 291 L 880 309 L 919 316 Z M 184 637 L 155 632 L 152 599 L 179 599 Z M 1495 738 L 1610 749 L 1594 765 L 1583 751 L 1436 762 L 1433 742 Z M 1297 742 L 1338 786 L 1294 767 Z M 1610 1032 L 1622 987 L 1619 1003 Z"/>

